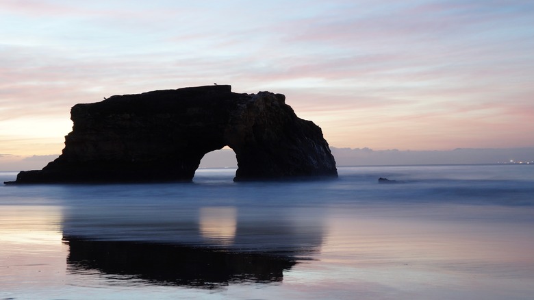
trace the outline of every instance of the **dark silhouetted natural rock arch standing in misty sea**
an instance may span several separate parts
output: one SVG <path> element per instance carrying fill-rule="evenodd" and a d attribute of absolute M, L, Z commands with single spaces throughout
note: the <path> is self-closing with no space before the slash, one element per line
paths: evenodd
<path fill-rule="evenodd" d="M 71 109 L 59 158 L 15 183 L 190 181 L 205 153 L 236 153 L 234 180 L 338 175 L 320 127 L 285 96 L 201 86 L 112 96 Z"/>

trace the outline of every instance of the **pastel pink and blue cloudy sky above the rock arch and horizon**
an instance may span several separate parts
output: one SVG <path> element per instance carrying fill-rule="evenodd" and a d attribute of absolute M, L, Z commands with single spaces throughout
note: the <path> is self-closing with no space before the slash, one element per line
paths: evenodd
<path fill-rule="evenodd" d="M 0 0 L 0 28 L 0 162 L 61 153 L 76 103 L 214 83 L 333 147 L 534 147 L 531 0 Z"/>

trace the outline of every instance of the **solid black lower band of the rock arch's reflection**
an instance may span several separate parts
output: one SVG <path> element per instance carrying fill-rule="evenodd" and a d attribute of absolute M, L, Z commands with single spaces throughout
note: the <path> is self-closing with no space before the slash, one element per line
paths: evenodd
<path fill-rule="evenodd" d="M 288 255 L 240 253 L 151 242 L 86 240 L 64 236 L 68 270 L 128 275 L 150 284 L 217 288 L 230 282 L 279 282 L 296 260 Z M 128 278 L 128 277 L 127 277 Z"/>

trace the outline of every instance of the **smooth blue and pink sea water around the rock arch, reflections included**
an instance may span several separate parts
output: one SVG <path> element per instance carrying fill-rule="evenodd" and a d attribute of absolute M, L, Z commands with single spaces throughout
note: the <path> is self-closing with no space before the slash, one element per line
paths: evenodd
<path fill-rule="evenodd" d="M 0 299 L 534 295 L 534 166 L 346 167 L 313 182 L 234 173 L 0 186 Z"/>

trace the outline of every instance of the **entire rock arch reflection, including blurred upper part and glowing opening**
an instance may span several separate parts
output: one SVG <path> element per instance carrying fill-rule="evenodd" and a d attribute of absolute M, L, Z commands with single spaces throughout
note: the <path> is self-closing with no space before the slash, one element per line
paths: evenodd
<path fill-rule="evenodd" d="M 322 245 L 322 218 L 309 208 L 129 199 L 65 208 L 71 274 L 96 271 L 112 285 L 280 282 Z"/>

